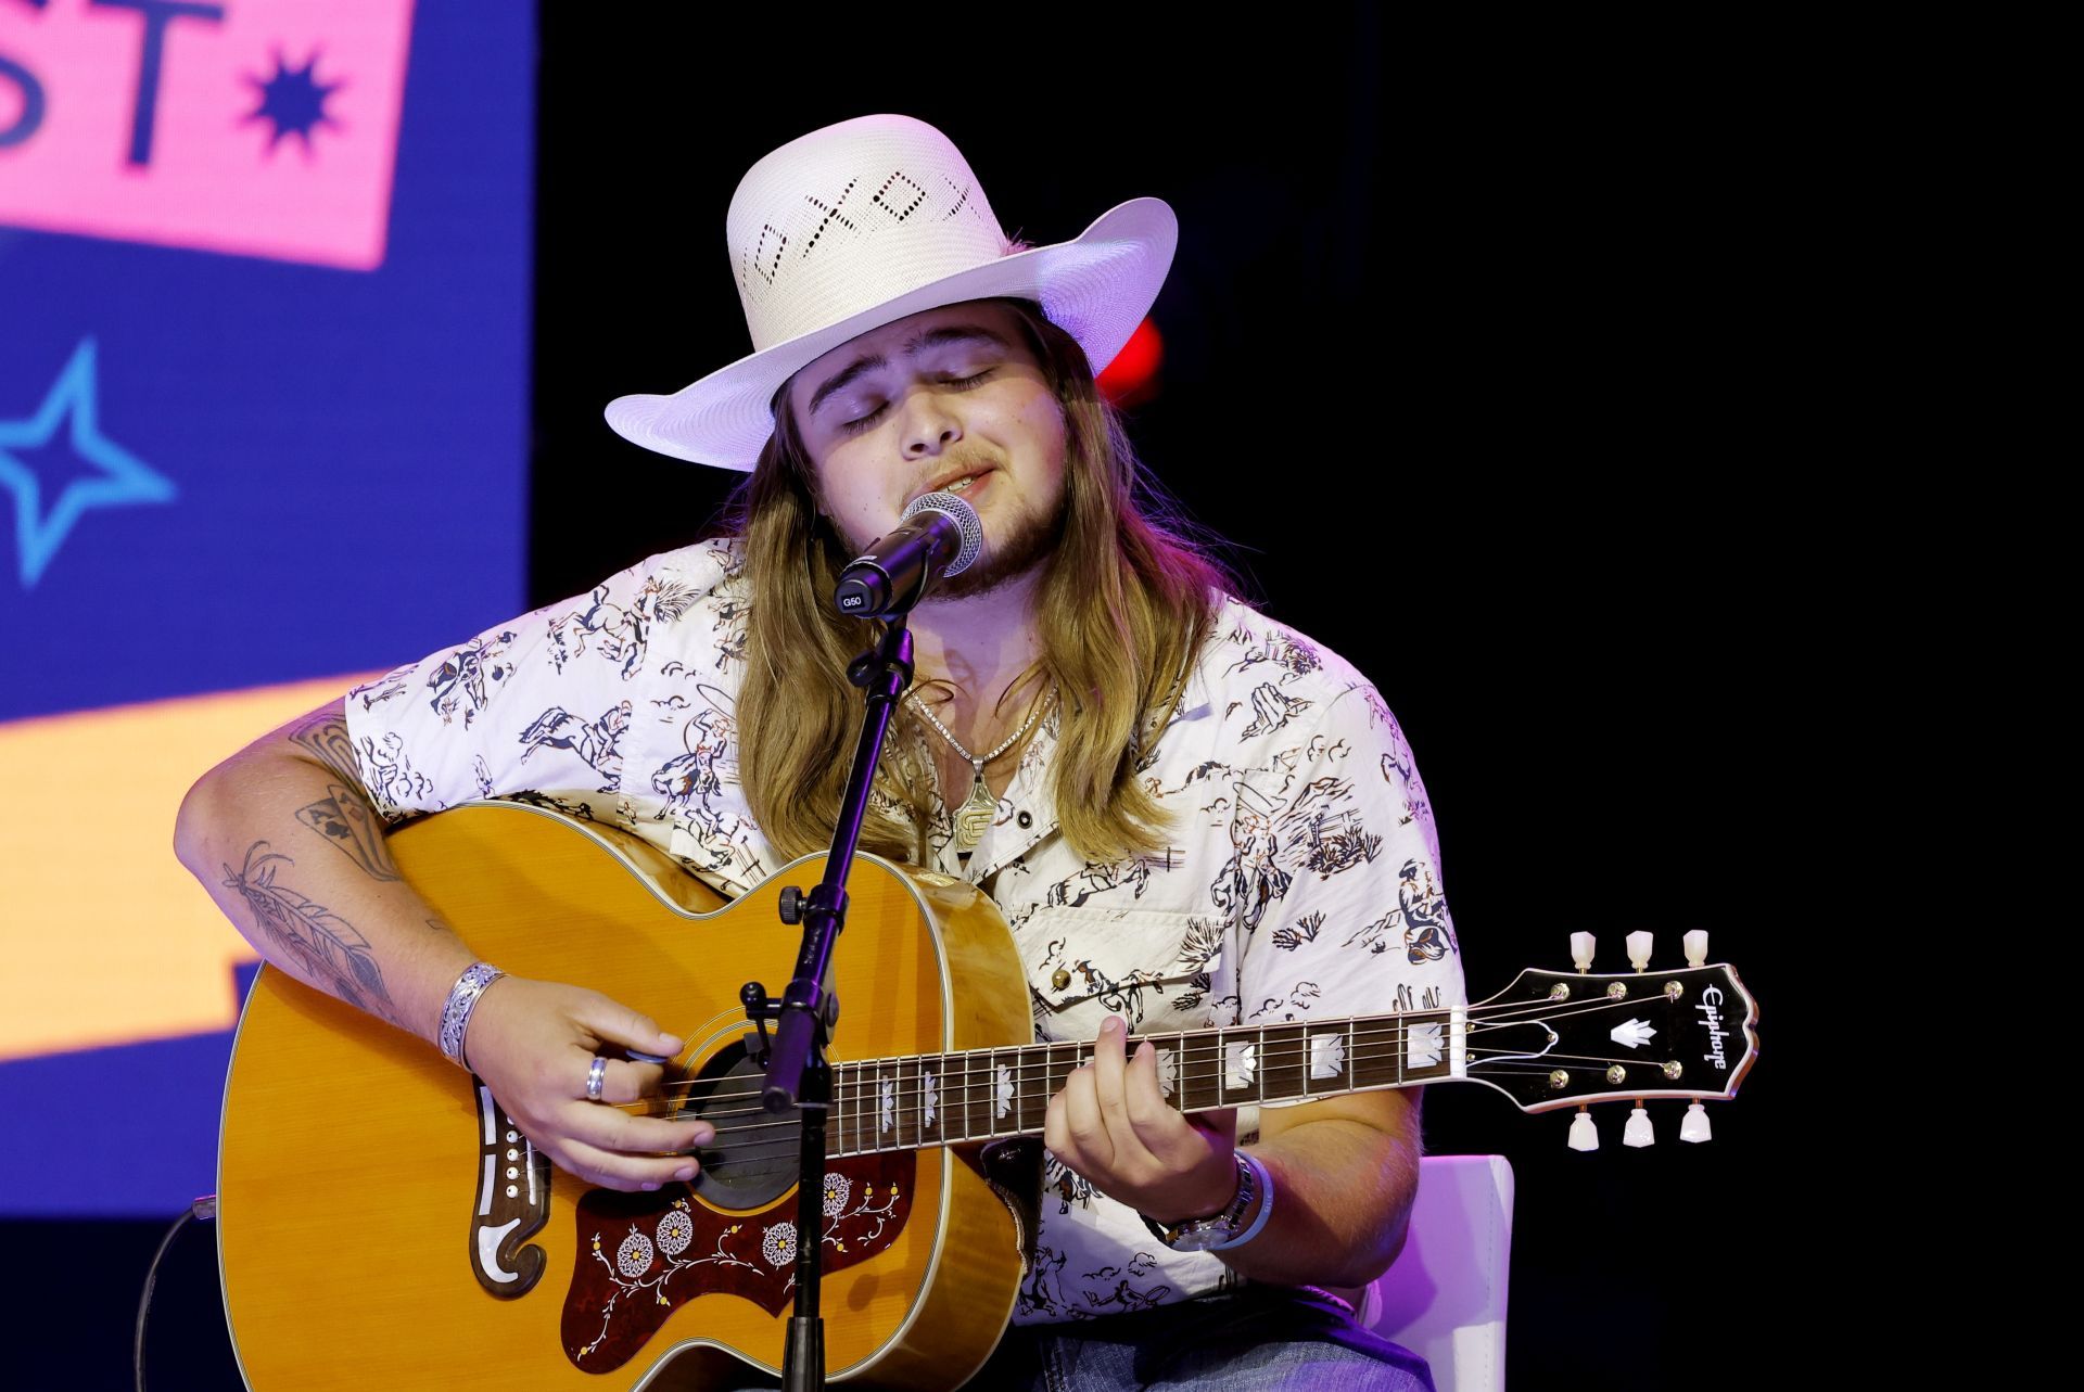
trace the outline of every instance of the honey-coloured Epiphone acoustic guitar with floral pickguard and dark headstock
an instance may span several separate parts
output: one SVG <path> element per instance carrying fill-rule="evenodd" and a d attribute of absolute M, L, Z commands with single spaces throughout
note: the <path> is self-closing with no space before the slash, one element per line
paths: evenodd
<path fill-rule="evenodd" d="M 260 1392 L 706 1390 L 775 1373 L 796 1244 L 825 1244 L 834 1382 L 957 1388 L 1013 1313 L 1027 1234 L 984 1159 L 1040 1136 L 1090 1044 L 1036 1044 L 1013 938 L 973 886 L 859 856 L 834 990 L 827 1173 L 809 1217 L 796 1119 L 759 1107 L 738 990 L 779 992 L 784 867 L 725 904 L 656 848 L 523 802 L 390 838 L 488 961 L 596 988 L 688 1040 L 661 1113 L 717 1140 L 692 1184 L 554 1169 L 438 1050 L 263 969 L 233 1042 L 219 1159 L 225 1315 Z M 1484 1082 L 1525 1111 L 1728 1098 L 1757 1052 L 1728 967 L 1525 971 L 1453 1011 L 1148 1036 L 1186 1111 Z M 1132 1042 L 1134 1048 L 1134 1042 Z M 1029 1144 L 1032 1150 L 1032 1144 Z M 748 1367 L 750 1365 L 750 1367 Z"/>

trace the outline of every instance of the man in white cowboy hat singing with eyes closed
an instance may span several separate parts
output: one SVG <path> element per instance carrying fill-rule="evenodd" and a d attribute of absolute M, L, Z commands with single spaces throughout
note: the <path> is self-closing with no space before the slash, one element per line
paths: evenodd
<path fill-rule="evenodd" d="M 481 963 L 381 831 L 534 798 L 727 894 L 823 848 L 846 663 L 873 636 L 834 613 L 834 579 L 913 500 L 961 496 L 984 554 L 911 617 L 917 681 L 863 848 L 979 886 L 1038 1034 L 1092 1040 L 1048 1102 L 1040 1234 L 977 1386 L 1430 1386 L 1317 1290 L 1396 1257 L 1419 1090 L 1269 1104 L 1240 1146 L 1234 1109 L 1169 1107 L 1169 1057 L 1125 1046 L 1465 1002 L 1390 711 L 1230 598 L 1094 388 L 1175 235 L 1140 198 L 1071 242 L 1011 242 L 961 152 L 904 117 L 775 150 L 727 219 L 754 352 L 609 408 L 638 444 L 748 473 L 725 533 L 258 740 L 196 784 L 177 850 L 273 967 L 440 1046 L 559 1167 L 686 1184 L 715 1127 L 617 1107 L 659 1092 L 675 1021 Z M 1240 411 L 1259 429 L 1238 448 L 1269 467 L 1330 444 L 1288 371 L 1252 373 Z"/>

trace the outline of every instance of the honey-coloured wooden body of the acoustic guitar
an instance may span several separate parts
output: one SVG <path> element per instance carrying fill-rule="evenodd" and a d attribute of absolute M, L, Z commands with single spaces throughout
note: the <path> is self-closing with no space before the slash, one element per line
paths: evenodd
<path fill-rule="evenodd" d="M 688 1040 L 690 1073 L 742 1052 L 742 984 L 788 984 L 800 934 L 779 888 L 823 869 L 725 906 L 634 838 L 513 802 L 417 821 L 390 848 L 486 961 L 648 1013 Z M 1032 1040 L 1011 936 L 975 888 L 861 856 L 848 892 L 834 1061 Z M 782 1159 L 792 1175 L 794 1146 Z M 829 1375 L 959 1386 L 1021 1279 L 1007 1202 L 942 1146 L 827 1175 Z M 782 1367 L 792 1184 L 742 1207 L 702 1182 L 596 1190 L 423 1040 L 283 971 L 260 971 L 240 1019 L 219 1200 L 225 1313 L 258 1392 L 715 1388 Z"/>

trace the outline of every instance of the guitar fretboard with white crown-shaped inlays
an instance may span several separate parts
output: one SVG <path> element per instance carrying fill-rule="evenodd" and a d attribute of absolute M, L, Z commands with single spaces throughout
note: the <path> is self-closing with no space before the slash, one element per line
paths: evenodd
<path fill-rule="evenodd" d="M 1457 1073 L 1457 1011 L 1132 1036 L 1159 1050 L 1159 1088 L 1184 1113 L 1415 1088 Z M 1040 1136 L 1048 1100 L 1092 1042 L 973 1048 L 834 1067 L 834 1157 Z"/>

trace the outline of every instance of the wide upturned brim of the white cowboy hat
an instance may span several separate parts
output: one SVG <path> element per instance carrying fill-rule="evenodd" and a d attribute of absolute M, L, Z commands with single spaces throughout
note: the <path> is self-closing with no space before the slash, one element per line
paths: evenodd
<path fill-rule="evenodd" d="M 965 300 L 1036 300 L 1102 371 L 1159 298 L 1180 244 L 1161 198 L 1132 198 L 1069 242 L 1038 246 L 917 285 L 875 308 L 721 367 L 671 396 L 617 396 L 609 427 L 646 450 L 694 465 L 750 471 L 773 436 L 769 402 L 784 381 L 869 329 Z"/>

